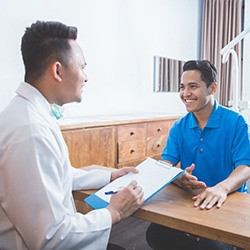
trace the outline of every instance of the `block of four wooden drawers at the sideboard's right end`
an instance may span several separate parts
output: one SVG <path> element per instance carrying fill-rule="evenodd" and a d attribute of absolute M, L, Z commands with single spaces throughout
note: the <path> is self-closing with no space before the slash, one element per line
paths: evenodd
<path fill-rule="evenodd" d="M 134 166 L 146 157 L 161 158 L 175 119 L 121 125 L 117 129 L 117 167 Z"/>

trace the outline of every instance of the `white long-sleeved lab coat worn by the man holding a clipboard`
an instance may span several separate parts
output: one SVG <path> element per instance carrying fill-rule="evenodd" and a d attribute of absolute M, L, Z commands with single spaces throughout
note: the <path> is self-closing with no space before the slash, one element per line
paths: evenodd
<path fill-rule="evenodd" d="M 109 211 L 77 213 L 72 190 L 109 180 L 71 166 L 50 104 L 21 83 L 0 114 L 0 249 L 106 249 Z"/>

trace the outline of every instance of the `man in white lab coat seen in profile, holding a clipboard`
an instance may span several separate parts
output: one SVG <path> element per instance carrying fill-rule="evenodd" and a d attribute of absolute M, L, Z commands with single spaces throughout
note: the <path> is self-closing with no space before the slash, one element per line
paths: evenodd
<path fill-rule="evenodd" d="M 105 209 L 76 212 L 72 190 L 100 188 L 134 168 L 112 174 L 71 166 L 52 104 L 80 102 L 87 82 L 77 29 L 37 21 L 21 51 L 25 82 L 0 114 L 0 249 L 107 248 L 112 224 L 143 204 L 131 182 Z"/>

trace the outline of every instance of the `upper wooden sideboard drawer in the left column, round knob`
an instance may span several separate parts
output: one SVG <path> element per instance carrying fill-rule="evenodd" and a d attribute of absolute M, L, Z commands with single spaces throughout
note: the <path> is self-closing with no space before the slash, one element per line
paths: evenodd
<path fill-rule="evenodd" d="M 146 138 L 146 134 L 147 134 L 146 123 L 123 125 L 117 128 L 118 142 Z"/>

